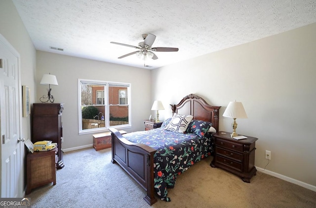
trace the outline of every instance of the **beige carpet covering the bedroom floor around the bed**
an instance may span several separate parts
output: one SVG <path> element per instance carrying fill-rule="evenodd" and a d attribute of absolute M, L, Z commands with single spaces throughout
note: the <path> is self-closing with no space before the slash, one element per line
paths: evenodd
<path fill-rule="evenodd" d="M 209 166 L 205 158 L 177 177 L 171 202 L 153 208 L 315 208 L 316 192 L 274 176 L 257 173 L 251 183 Z M 87 148 L 64 154 L 56 185 L 34 189 L 32 208 L 149 208 L 145 191 L 118 164 L 111 149 Z"/>

